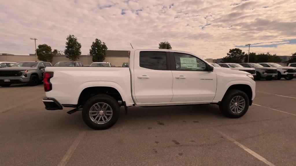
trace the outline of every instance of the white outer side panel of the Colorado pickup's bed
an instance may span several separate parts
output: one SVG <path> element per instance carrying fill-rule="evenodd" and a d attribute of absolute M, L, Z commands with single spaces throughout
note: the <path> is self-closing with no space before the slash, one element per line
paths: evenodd
<path fill-rule="evenodd" d="M 62 105 L 76 105 L 87 87 L 113 87 L 122 94 L 126 105 L 133 105 L 131 97 L 131 73 L 127 67 L 46 67 L 54 72 L 50 79 L 52 90 L 47 97 L 54 97 Z"/>

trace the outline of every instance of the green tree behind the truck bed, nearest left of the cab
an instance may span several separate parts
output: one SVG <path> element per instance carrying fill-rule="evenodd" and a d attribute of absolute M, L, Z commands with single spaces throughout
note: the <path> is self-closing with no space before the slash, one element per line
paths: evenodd
<path fill-rule="evenodd" d="M 102 62 L 105 60 L 106 57 L 106 44 L 101 42 L 101 40 L 96 39 L 92 45 L 91 49 L 89 49 L 89 55 L 92 56 L 93 62 Z"/>

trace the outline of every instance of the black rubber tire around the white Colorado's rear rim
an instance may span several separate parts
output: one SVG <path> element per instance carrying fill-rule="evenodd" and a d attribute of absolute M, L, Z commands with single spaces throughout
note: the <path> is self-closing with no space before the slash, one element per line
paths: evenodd
<path fill-rule="evenodd" d="M 91 107 L 96 104 L 96 103 L 106 103 L 108 104 L 111 109 L 112 109 L 112 117 L 109 121 L 107 121 L 104 124 L 98 124 L 95 123 L 91 117 L 89 116 L 89 111 L 91 109 Z M 119 112 L 120 112 L 120 107 L 118 105 L 118 102 L 111 96 L 109 95 L 96 95 L 94 97 L 91 97 L 89 100 L 86 101 L 86 103 L 83 106 L 83 110 L 82 110 L 82 118 L 84 123 L 89 126 L 92 129 L 95 130 L 104 130 L 107 128 L 112 127 L 118 120 L 119 118 Z M 98 116 L 101 116 L 98 114 Z M 102 115 L 101 118 L 103 118 L 104 116 Z"/>

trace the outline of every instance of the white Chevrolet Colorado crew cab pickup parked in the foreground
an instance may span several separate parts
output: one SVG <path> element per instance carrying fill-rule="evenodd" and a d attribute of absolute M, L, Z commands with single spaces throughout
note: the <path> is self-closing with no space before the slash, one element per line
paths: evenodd
<path fill-rule="evenodd" d="M 129 67 L 46 67 L 42 100 L 47 110 L 73 113 L 101 130 L 113 126 L 120 106 L 217 104 L 230 118 L 243 116 L 255 97 L 245 71 L 214 68 L 202 58 L 173 50 L 129 52 Z"/>

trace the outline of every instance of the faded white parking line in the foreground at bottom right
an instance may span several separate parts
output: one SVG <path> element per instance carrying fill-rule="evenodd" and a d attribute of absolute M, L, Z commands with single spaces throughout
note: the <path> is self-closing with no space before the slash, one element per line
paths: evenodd
<path fill-rule="evenodd" d="M 215 128 L 213 128 L 213 130 L 215 130 L 216 132 L 218 132 L 219 134 L 221 134 L 224 138 L 226 138 L 229 141 L 233 142 L 234 144 L 236 144 L 240 148 L 244 149 L 246 152 L 250 153 L 252 156 L 256 157 L 258 160 L 264 162 L 265 164 L 267 164 L 269 166 L 275 166 L 274 164 L 272 164 L 271 162 L 269 162 L 268 160 L 266 160 L 264 157 L 260 156 L 259 154 L 257 154 L 256 152 L 252 151 L 251 149 L 245 147 L 243 144 L 239 143 L 238 141 L 236 141 L 235 139 L 231 138 L 230 136 L 222 133 L 221 131 L 219 131 L 219 130 L 217 130 Z"/>

